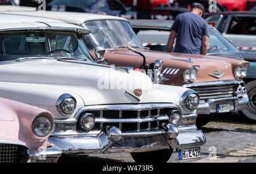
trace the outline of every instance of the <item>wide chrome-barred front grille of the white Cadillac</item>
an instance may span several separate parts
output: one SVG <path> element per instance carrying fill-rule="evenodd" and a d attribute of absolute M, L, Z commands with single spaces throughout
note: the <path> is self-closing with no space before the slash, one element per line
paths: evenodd
<path fill-rule="evenodd" d="M 93 130 L 112 125 L 121 131 L 156 130 L 162 122 L 168 121 L 168 113 L 179 110 L 175 104 L 125 104 L 85 107 L 81 113 L 92 113 L 96 117 Z M 81 115 L 81 114 L 80 114 Z"/>

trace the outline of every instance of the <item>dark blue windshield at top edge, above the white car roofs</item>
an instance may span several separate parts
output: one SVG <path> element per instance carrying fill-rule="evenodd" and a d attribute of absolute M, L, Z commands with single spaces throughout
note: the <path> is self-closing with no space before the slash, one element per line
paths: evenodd
<path fill-rule="evenodd" d="M 63 5 L 67 7 L 84 7 L 88 8 L 92 6 L 97 0 L 53 0 L 52 2 L 48 3 L 48 6 L 52 5 Z"/>

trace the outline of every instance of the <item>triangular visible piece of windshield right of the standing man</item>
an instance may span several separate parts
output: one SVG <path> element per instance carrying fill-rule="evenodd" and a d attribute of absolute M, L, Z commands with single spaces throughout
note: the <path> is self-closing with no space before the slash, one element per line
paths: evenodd
<path fill-rule="evenodd" d="M 209 28 L 208 54 L 238 52 L 239 50 L 213 28 Z"/>

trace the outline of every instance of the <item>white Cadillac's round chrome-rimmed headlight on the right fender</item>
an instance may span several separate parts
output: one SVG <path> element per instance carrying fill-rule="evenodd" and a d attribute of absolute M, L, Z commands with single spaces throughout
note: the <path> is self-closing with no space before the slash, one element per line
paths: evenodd
<path fill-rule="evenodd" d="M 194 104 L 193 107 L 189 107 L 189 103 L 188 103 L 188 99 L 191 99 L 191 98 L 193 99 L 194 102 L 195 102 L 195 99 L 197 98 L 197 103 Z M 188 91 L 185 91 L 184 94 L 181 96 L 181 104 L 187 111 L 195 110 L 199 106 L 199 103 L 200 103 L 200 97 L 196 91 L 188 90 Z"/>

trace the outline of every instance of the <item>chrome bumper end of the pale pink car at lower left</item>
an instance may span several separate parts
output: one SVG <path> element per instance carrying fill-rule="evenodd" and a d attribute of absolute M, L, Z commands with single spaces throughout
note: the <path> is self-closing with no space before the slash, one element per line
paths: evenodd
<path fill-rule="evenodd" d="M 49 146 L 40 152 L 28 151 L 28 163 L 57 163 L 62 151 L 56 146 Z"/>

